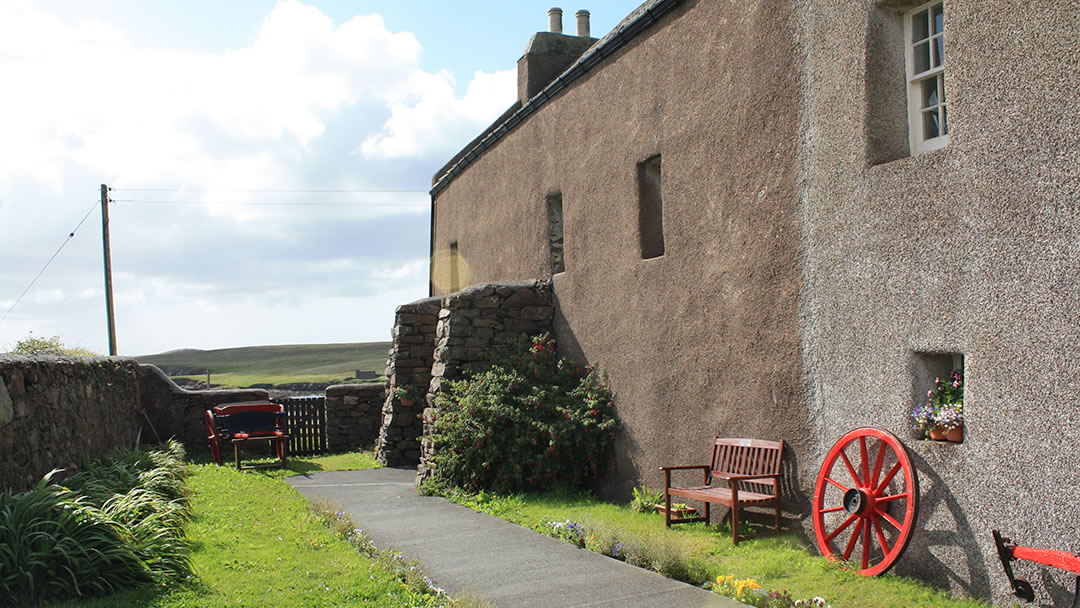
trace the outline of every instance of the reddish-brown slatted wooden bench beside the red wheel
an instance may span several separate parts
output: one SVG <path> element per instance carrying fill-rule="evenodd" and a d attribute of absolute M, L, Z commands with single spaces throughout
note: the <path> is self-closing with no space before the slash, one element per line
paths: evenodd
<path fill-rule="evenodd" d="M 710 503 L 731 508 L 732 542 L 739 544 L 739 510 L 743 506 L 772 506 L 775 509 L 775 531 L 780 531 L 780 463 L 784 442 L 715 437 L 711 464 L 661 467 L 664 473 L 664 525 L 689 522 L 708 523 Z M 700 469 L 704 485 L 672 486 L 672 471 Z M 724 483 L 724 485 L 714 485 Z M 677 496 L 705 503 L 700 517 L 672 518 L 672 497 Z M 744 536 L 743 539 L 753 538 Z"/>

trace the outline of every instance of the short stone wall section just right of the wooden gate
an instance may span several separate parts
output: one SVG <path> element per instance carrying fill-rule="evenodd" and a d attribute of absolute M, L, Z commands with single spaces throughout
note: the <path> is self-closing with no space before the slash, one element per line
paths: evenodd
<path fill-rule="evenodd" d="M 326 388 L 326 449 L 369 447 L 379 437 L 387 386 L 382 382 Z"/>

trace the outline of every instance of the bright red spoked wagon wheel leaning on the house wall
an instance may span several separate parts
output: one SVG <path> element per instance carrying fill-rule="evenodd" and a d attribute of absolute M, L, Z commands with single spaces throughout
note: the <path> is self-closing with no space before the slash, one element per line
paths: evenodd
<path fill-rule="evenodd" d="M 880 575 L 904 553 L 918 517 L 919 477 L 895 435 L 855 429 L 828 450 L 813 490 L 813 529 L 825 557 Z"/>

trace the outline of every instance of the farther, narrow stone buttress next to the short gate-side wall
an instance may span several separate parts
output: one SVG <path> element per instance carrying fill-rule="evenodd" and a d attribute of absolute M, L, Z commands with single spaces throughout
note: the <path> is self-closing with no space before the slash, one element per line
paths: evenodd
<path fill-rule="evenodd" d="M 428 298 L 397 307 L 393 346 L 387 361 L 390 387 L 409 387 L 427 393 L 434 362 L 435 326 L 440 300 Z M 388 467 L 411 467 L 420 461 L 420 420 L 422 407 L 405 405 L 391 391 L 382 404 L 382 421 L 375 456 Z"/>

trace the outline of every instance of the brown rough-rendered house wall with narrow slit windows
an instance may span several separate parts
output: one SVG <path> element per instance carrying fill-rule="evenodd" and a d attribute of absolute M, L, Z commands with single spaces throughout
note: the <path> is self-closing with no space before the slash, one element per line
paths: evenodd
<path fill-rule="evenodd" d="M 550 276 L 562 193 L 555 327 L 617 394 L 613 494 L 719 433 L 788 441 L 788 503 L 808 502 L 792 21 L 788 2 L 683 2 L 436 197 L 436 253 L 457 242 L 469 284 Z M 642 259 L 637 167 L 658 153 L 664 255 Z"/>

